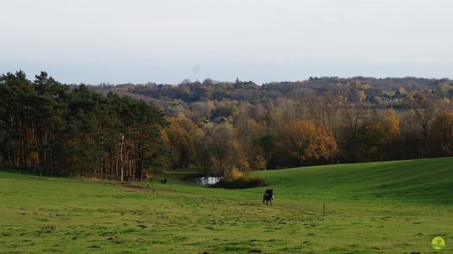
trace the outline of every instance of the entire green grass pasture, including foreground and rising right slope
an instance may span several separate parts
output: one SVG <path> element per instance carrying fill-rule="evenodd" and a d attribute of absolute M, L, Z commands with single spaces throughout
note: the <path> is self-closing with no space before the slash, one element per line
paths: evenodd
<path fill-rule="evenodd" d="M 1 170 L 0 253 L 453 253 L 453 158 L 261 171 L 270 186 L 246 190 L 187 174 L 141 187 Z"/>

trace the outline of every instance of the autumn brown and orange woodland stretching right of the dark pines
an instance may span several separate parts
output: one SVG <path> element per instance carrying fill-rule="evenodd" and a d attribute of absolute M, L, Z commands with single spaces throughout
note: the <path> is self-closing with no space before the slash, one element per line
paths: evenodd
<path fill-rule="evenodd" d="M 171 128 L 183 128 L 193 144 L 178 153 L 171 150 L 175 167 L 211 165 L 205 169 L 209 171 L 233 165 L 255 170 L 262 165 L 289 168 L 452 155 L 453 86 L 447 78 L 311 77 L 262 86 L 239 79 L 205 79 L 178 85 L 101 83 L 90 88 L 161 105 Z M 193 126 L 184 129 L 172 121 Z M 218 128 L 224 129 L 218 138 L 228 142 L 214 146 Z M 183 151 L 195 152 L 180 157 Z"/>

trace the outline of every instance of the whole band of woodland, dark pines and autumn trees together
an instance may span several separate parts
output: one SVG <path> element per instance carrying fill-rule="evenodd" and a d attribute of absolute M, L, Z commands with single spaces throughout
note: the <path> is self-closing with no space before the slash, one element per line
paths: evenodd
<path fill-rule="evenodd" d="M 0 77 L 2 166 L 133 180 L 452 156 L 449 79 L 67 85 Z"/>

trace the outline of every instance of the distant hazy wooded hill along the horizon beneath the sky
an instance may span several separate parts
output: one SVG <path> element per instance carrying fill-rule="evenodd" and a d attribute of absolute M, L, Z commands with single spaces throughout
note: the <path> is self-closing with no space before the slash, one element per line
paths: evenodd
<path fill-rule="evenodd" d="M 415 77 L 376 79 L 372 77 L 357 76 L 352 78 L 339 77 L 310 77 L 304 81 L 282 81 L 263 83 L 258 86 L 253 81 L 221 82 L 205 79 L 205 81 L 185 80 L 177 85 L 156 83 L 123 83 L 90 86 L 98 93 L 113 91 L 120 95 L 141 98 L 148 101 L 159 102 L 180 100 L 184 103 L 193 103 L 205 100 L 230 99 L 250 103 L 263 102 L 280 97 L 302 99 L 309 91 L 333 91 L 346 98 L 356 98 L 357 91 L 362 91 L 366 100 L 371 103 L 382 103 L 386 100 L 403 98 L 406 94 L 416 91 L 443 90 L 444 96 L 452 96 L 450 79 L 425 79 Z M 392 101 L 392 103 L 394 103 Z M 394 103 L 398 105 L 398 103 Z"/>

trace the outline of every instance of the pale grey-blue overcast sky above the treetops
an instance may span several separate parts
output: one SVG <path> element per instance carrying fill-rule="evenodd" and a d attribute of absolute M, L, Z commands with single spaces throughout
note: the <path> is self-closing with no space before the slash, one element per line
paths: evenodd
<path fill-rule="evenodd" d="M 453 79 L 451 0 L 1 0 L 0 74 L 62 83 Z"/>

